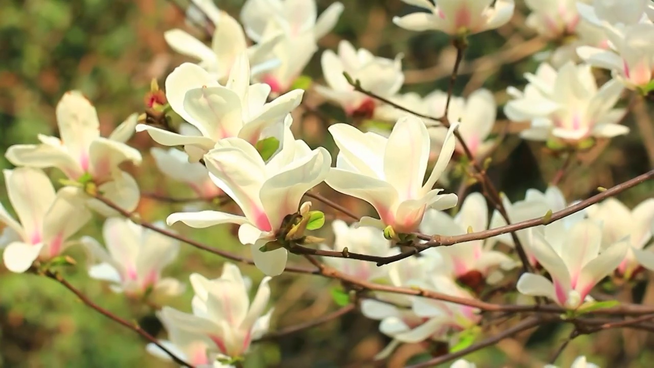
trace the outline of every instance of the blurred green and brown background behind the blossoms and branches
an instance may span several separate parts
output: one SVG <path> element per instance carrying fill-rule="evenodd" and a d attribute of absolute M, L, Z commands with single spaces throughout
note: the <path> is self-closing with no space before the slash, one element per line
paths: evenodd
<path fill-rule="evenodd" d="M 143 99 L 151 79 L 163 85 L 165 75 L 186 61 L 169 49 L 163 31 L 183 28 L 198 37 L 203 34 L 188 28 L 180 10 L 186 3 L 177 1 L 177 5 L 165 0 L 0 1 L 0 150 L 4 152 L 15 143 L 34 143 L 39 133 L 56 135 L 54 108 L 67 90 L 82 90 L 94 103 L 104 134 L 130 113 L 143 112 Z M 336 48 L 339 40 L 348 39 L 379 56 L 393 58 L 398 52 L 404 53 L 407 82 L 404 92 L 427 94 L 447 88 L 455 52 L 445 35 L 413 33 L 394 26 L 390 22 L 392 16 L 413 11 L 400 0 L 342 1 L 346 10 L 334 32 L 320 41 L 320 51 L 307 67 L 306 75 L 319 83 L 322 50 Z M 545 189 L 562 162 L 542 145 L 517 138 L 513 132 L 521 126 L 508 124 L 502 115 L 506 87 L 523 86 L 523 73 L 534 71 L 538 65 L 531 55 L 557 45 L 555 41 L 539 39 L 524 26 L 524 6 L 522 1 L 517 2 L 520 11 L 510 24 L 470 38 L 461 76 L 455 85 L 456 95 L 467 95 L 481 86 L 496 92 L 500 105 L 496 133 L 502 143 L 493 155 L 490 175 L 511 200 L 521 199 L 529 187 Z M 237 17 L 243 1 L 216 0 L 216 3 Z M 318 7 L 324 9 L 330 3 L 330 0 L 318 0 Z M 598 77 L 606 79 L 606 75 Z M 347 122 L 337 107 L 320 105 L 311 91 L 307 92 L 307 99 L 318 109 L 321 118 Z M 654 132 L 647 119 L 649 111 L 640 107 L 638 112 L 625 120 L 632 128 L 631 134 L 613 139 L 610 146 L 598 145 L 581 155 L 580 162 L 572 164 L 560 183 L 568 200 L 587 198 L 598 186 L 611 187 L 652 167 Z M 332 147 L 318 115 L 304 115 L 295 124 L 301 122 L 312 145 L 324 143 Z M 165 181 L 158 173 L 147 155 L 153 145 L 147 134 L 136 134 L 131 144 L 144 152 L 143 165 L 129 168 L 143 192 L 185 194 L 184 189 Z M 0 167 L 10 168 L 4 157 L 0 158 Z M 456 190 L 457 180 L 451 179 L 452 191 Z M 320 190 L 334 195 L 326 188 Z M 645 183 L 619 198 L 633 206 L 652 193 L 654 183 Z M 0 200 L 10 208 L 5 191 L 0 191 Z M 358 202 L 347 201 L 347 204 L 362 214 L 368 210 Z M 148 221 L 163 219 L 167 213 L 177 210 L 181 206 L 147 198 L 139 205 L 139 213 Z M 101 224 L 101 219 L 95 219 L 86 234 L 101 239 Z M 228 227 L 176 229 L 215 247 L 243 251 L 232 236 L 233 229 Z M 150 333 L 165 337 L 150 310 L 129 303 L 122 295 L 111 293 L 107 285 L 88 279 L 84 253 L 73 248 L 71 255 L 79 261 L 78 267 L 65 272 L 73 284 L 102 306 L 139 321 Z M 221 265 L 221 259 L 182 245 L 178 261 L 165 272 L 181 280 L 188 280 L 192 272 L 215 278 L 220 275 Z M 262 278 L 256 268 L 244 265 L 241 269 L 255 283 Z M 634 284 L 632 295 L 621 297 L 654 303 L 654 292 L 647 280 Z M 273 329 L 307 322 L 337 308 L 330 295 L 330 289 L 337 285 L 328 280 L 279 276 L 272 285 Z M 173 306 L 189 310 L 191 297 L 187 290 Z M 570 332 L 569 328 L 549 325 L 528 339 L 518 336 L 504 340 L 470 359 L 479 367 L 542 367 L 543 361 L 547 361 Z M 371 367 L 371 358 L 388 341 L 377 331 L 377 322 L 354 312 L 307 331 L 257 344 L 246 367 Z M 649 367 L 654 359 L 652 348 L 651 337 L 630 331 L 610 331 L 574 340 L 560 361 L 570 364 L 577 354 L 586 354 L 591 361 L 606 367 Z M 426 358 L 420 346 L 405 345 L 388 364 L 401 367 L 409 361 Z M 0 367 L 173 366 L 149 356 L 144 340 L 86 308 L 61 285 L 31 274 L 10 274 L 0 266 Z"/>

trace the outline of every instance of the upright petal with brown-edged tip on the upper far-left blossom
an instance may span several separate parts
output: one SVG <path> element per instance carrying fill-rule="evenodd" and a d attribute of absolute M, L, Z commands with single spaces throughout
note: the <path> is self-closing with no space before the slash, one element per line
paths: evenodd
<path fill-rule="evenodd" d="M 71 155 L 81 159 L 91 142 L 100 136 L 95 107 L 79 91 L 66 92 L 56 109 L 61 141 Z"/>

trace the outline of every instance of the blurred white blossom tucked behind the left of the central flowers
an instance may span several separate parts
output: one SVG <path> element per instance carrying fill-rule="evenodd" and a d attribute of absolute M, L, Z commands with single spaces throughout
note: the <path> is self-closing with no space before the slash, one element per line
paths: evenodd
<path fill-rule="evenodd" d="M 153 147 L 150 153 L 157 168 L 167 177 L 188 184 L 198 194 L 198 198 L 214 198 L 220 188 L 211 181 L 209 171 L 199 162 L 189 162 L 188 154 L 176 148 L 161 149 Z"/>

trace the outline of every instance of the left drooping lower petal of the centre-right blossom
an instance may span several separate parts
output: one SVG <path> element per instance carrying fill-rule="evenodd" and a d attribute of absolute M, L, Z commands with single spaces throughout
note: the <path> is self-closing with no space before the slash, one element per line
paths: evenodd
<path fill-rule="evenodd" d="M 377 210 L 386 225 L 394 224 L 398 193 L 386 181 L 331 168 L 325 183 L 337 192 L 365 200 Z"/>

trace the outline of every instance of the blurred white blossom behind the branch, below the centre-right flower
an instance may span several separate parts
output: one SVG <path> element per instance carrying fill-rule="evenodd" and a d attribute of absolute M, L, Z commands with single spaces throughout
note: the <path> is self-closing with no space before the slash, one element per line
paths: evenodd
<path fill-rule="evenodd" d="M 332 222 L 334 230 L 334 250 L 341 251 L 345 248 L 353 253 L 362 253 L 385 257 L 390 255 L 390 242 L 384 238 L 384 234 L 376 227 L 358 227 L 355 224 L 348 226 L 343 220 Z M 322 249 L 331 249 L 322 246 Z M 337 270 L 356 277 L 358 280 L 375 280 L 386 276 L 388 267 L 377 267 L 373 262 L 362 262 L 355 259 L 336 257 L 324 257 L 324 263 Z"/>

